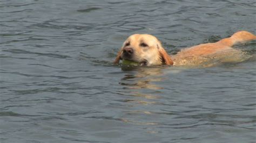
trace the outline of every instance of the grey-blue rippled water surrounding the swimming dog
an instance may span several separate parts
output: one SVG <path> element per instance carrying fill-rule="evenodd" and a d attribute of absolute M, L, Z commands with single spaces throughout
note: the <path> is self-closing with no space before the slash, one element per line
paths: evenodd
<path fill-rule="evenodd" d="M 0 142 L 255 142 L 255 58 L 112 65 L 134 33 L 169 53 L 255 31 L 248 1 L 0 1 Z M 235 48 L 255 56 L 256 42 Z"/>

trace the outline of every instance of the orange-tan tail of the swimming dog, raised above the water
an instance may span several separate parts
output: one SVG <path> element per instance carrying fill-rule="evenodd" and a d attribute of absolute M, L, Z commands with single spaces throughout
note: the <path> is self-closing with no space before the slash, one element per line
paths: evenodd
<path fill-rule="evenodd" d="M 256 36 L 254 34 L 247 31 L 238 31 L 234 33 L 230 38 L 225 38 L 218 42 L 231 47 L 235 44 L 244 43 L 251 40 L 256 40 Z"/>

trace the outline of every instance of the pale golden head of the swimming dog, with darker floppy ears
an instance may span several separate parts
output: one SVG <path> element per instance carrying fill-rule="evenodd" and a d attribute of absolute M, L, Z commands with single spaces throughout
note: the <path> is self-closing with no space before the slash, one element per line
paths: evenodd
<path fill-rule="evenodd" d="M 138 62 L 141 66 L 173 65 L 160 41 L 150 34 L 133 34 L 127 38 L 114 63 L 119 60 Z"/>

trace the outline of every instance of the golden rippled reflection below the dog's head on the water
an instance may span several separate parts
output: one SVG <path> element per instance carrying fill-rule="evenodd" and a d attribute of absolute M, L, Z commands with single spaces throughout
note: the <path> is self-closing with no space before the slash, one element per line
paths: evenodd
<path fill-rule="evenodd" d="M 158 103 L 158 98 L 161 98 L 160 91 L 163 87 L 157 85 L 156 82 L 161 82 L 164 80 L 163 69 L 168 67 L 139 67 L 139 66 L 122 66 L 122 70 L 124 72 L 133 71 L 132 73 L 127 73 L 124 75 L 123 78 L 120 79 L 119 84 L 123 86 L 124 90 L 129 92 L 127 98 L 123 101 L 132 106 L 155 106 L 161 103 Z M 135 71 L 135 72 L 134 72 Z M 141 90 L 143 89 L 143 90 Z M 153 94 L 146 94 L 143 91 L 152 90 Z M 156 94 L 157 93 L 157 94 Z M 152 116 L 152 112 L 150 110 L 130 110 L 126 111 L 127 118 L 124 120 L 127 123 L 134 124 L 134 125 L 146 125 L 152 126 L 157 125 L 157 122 L 147 121 L 147 120 L 134 120 L 129 118 L 130 116 L 141 116 L 144 115 L 146 118 L 147 116 Z M 154 113 L 153 113 L 154 115 Z M 148 131 L 149 133 L 156 133 L 156 131 Z"/>

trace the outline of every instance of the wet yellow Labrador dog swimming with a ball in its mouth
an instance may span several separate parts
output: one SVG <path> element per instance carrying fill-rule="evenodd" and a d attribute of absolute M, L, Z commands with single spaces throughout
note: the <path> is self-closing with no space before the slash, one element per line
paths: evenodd
<path fill-rule="evenodd" d="M 255 39 L 254 34 L 239 31 L 230 38 L 181 49 L 176 55 L 169 55 L 162 47 L 161 42 L 153 35 L 133 34 L 125 40 L 114 63 L 119 63 L 120 60 L 130 60 L 139 63 L 140 66 L 197 66 L 208 59 L 224 58 L 230 55 L 234 55 L 233 60 L 237 60 L 235 56 L 242 55 L 241 51 L 232 46 Z"/>

